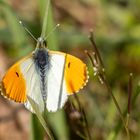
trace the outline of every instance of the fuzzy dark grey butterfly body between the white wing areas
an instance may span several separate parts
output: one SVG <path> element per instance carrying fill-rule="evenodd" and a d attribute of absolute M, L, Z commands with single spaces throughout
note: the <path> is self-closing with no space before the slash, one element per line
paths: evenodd
<path fill-rule="evenodd" d="M 41 88 L 42 98 L 43 101 L 46 102 L 46 98 L 47 98 L 46 75 L 50 67 L 49 54 L 47 49 L 44 48 L 37 49 L 34 53 L 33 59 L 34 59 L 36 71 L 39 74 L 39 78 L 40 78 L 40 88 Z"/>

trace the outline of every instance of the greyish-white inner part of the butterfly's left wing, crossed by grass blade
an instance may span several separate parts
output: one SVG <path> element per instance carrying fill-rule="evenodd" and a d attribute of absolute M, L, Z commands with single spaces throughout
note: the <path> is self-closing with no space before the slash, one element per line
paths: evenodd
<path fill-rule="evenodd" d="M 21 63 L 20 67 L 26 81 L 26 94 L 35 101 L 40 112 L 42 112 L 44 110 L 44 103 L 40 90 L 39 75 L 36 72 L 35 64 L 33 60 L 29 58 Z M 28 110 L 34 112 L 28 100 L 24 105 Z"/>

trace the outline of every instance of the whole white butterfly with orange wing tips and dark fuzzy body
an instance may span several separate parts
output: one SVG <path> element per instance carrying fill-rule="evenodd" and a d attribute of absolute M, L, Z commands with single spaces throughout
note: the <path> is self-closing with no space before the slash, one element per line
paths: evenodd
<path fill-rule="evenodd" d="M 77 93 L 88 81 L 86 64 L 79 58 L 47 48 L 43 37 L 37 39 L 35 50 L 19 60 L 1 81 L 2 95 L 24 103 L 34 112 L 27 96 L 39 107 L 55 112 L 62 108 L 69 95 Z"/>

